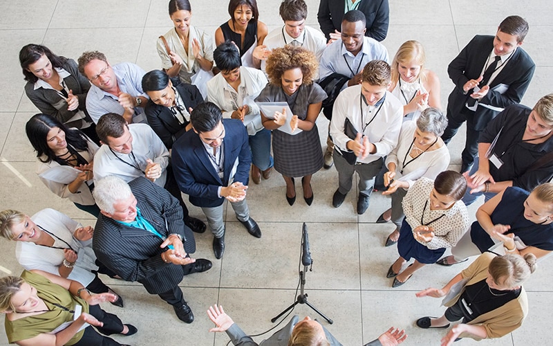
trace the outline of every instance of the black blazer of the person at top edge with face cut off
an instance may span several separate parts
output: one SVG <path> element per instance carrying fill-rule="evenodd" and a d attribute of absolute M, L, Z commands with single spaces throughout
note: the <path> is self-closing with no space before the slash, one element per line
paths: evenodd
<path fill-rule="evenodd" d="M 334 33 L 334 30 L 341 31 L 344 6 L 346 4 L 343 0 L 321 0 L 319 3 L 317 19 L 327 40 L 330 39 L 330 33 Z M 359 3 L 357 10 L 365 14 L 367 21 L 365 36 L 383 41 L 388 35 L 388 24 L 390 23 L 388 0 L 364 0 Z"/>

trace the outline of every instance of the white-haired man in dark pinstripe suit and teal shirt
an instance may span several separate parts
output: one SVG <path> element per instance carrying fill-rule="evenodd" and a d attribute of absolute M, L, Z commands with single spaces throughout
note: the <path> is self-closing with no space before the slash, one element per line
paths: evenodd
<path fill-rule="evenodd" d="M 138 281 L 173 306 L 186 323 L 194 314 L 178 284 L 183 275 L 209 270 L 209 260 L 194 260 L 194 233 L 182 221 L 182 208 L 164 188 L 144 177 L 126 183 L 106 176 L 93 192 L 100 207 L 93 250 L 122 280 Z"/>

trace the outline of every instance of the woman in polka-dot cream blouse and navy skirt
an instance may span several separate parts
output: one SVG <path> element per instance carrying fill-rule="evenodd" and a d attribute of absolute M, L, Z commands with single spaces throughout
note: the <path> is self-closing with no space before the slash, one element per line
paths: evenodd
<path fill-rule="evenodd" d="M 420 178 L 403 199 L 405 219 L 397 241 L 400 257 L 388 269 L 392 287 L 404 284 L 425 264 L 435 263 L 446 248 L 457 244 L 469 228 L 467 207 L 461 199 L 467 181 L 458 172 L 444 171 L 435 181 Z M 415 259 L 404 271 L 402 266 Z"/>

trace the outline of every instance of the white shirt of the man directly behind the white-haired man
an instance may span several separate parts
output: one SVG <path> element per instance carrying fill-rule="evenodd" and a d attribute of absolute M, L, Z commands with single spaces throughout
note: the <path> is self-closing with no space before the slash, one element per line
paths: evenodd
<path fill-rule="evenodd" d="M 139 176 L 144 176 L 148 164 L 146 161 L 149 158 L 154 163 L 159 163 L 163 170 L 155 181 L 156 185 L 163 188 L 167 180 L 165 168 L 169 165 L 169 150 L 149 125 L 130 124 L 129 131 L 133 136 L 131 154 L 112 152 L 106 144 L 98 149 L 94 156 L 94 181 L 104 176 L 115 175 L 129 183 Z"/>

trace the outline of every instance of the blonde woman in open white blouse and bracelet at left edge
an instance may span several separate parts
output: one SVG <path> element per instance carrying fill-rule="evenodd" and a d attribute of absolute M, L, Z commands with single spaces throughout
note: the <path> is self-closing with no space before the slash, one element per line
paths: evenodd
<path fill-rule="evenodd" d="M 15 240 L 15 256 L 28 271 L 37 269 L 80 282 L 93 293 L 113 293 L 97 273 L 115 277 L 96 260 L 92 249 L 94 229 L 83 227 L 67 215 L 43 209 L 32 217 L 17 210 L 0 212 L 0 235 Z M 112 304 L 123 307 L 118 295 Z"/>

